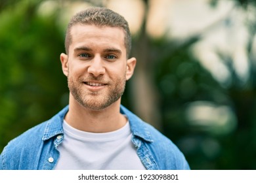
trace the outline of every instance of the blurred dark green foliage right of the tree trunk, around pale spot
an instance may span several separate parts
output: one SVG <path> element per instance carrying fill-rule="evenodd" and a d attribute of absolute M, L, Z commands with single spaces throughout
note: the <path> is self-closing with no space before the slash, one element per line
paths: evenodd
<path fill-rule="evenodd" d="M 164 133 L 181 148 L 191 168 L 255 169 L 255 82 L 240 87 L 233 78 L 232 86 L 224 88 L 186 48 L 169 55 L 157 69 Z M 230 107 L 235 114 L 226 126 L 230 129 L 190 124 L 186 110 L 196 101 Z"/>

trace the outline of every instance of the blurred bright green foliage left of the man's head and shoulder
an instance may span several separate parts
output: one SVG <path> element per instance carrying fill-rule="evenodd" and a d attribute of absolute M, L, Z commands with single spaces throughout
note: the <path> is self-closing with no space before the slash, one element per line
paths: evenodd
<path fill-rule="evenodd" d="M 68 104 L 59 55 L 64 35 L 56 16 L 19 1 L 0 12 L 0 149 Z"/>

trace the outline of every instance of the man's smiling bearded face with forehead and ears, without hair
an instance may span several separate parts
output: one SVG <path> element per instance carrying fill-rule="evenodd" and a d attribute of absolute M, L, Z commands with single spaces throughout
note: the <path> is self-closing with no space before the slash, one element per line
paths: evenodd
<path fill-rule="evenodd" d="M 126 59 L 123 30 L 74 25 L 71 36 L 69 55 L 60 56 L 71 97 L 92 110 L 120 101 L 136 63 L 135 58 Z"/>

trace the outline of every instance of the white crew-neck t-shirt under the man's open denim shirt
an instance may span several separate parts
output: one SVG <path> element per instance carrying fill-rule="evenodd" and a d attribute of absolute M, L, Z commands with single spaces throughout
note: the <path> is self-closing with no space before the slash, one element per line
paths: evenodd
<path fill-rule="evenodd" d="M 55 169 L 145 169 L 131 142 L 129 122 L 108 133 L 80 131 L 63 122 L 64 141 L 58 146 Z"/>

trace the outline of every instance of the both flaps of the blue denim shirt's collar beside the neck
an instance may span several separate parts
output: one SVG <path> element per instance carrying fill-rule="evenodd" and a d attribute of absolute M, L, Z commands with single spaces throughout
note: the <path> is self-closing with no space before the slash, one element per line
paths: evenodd
<path fill-rule="evenodd" d="M 64 120 L 64 116 L 68 112 L 68 109 L 69 106 L 66 106 L 47 122 L 45 132 L 43 134 L 43 141 L 46 141 L 56 135 L 64 133 L 62 122 Z M 150 135 L 150 131 L 148 130 L 148 126 L 145 125 L 145 123 L 142 122 L 142 120 L 138 118 L 138 116 L 133 114 L 127 108 L 123 107 L 123 105 L 121 105 L 120 107 L 120 112 L 121 114 L 126 115 L 129 119 L 131 132 L 133 133 L 133 135 L 140 137 L 141 139 L 144 139 L 144 141 L 153 142 L 152 137 Z"/>

